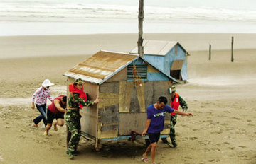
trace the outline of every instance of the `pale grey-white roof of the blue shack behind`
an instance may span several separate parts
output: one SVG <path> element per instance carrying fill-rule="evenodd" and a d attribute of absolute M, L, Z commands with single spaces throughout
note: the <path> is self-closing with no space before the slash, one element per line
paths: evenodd
<path fill-rule="evenodd" d="M 166 55 L 177 43 L 176 41 L 144 40 L 144 54 Z M 138 47 L 134 47 L 130 53 L 137 54 Z"/>

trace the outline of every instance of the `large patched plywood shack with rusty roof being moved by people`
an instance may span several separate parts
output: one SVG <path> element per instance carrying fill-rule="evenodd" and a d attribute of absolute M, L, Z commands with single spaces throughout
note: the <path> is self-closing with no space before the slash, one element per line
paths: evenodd
<path fill-rule="evenodd" d="M 142 133 L 146 107 L 159 96 L 171 95 L 168 88 L 176 81 L 150 61 L 137 54 L 100 51 L 65 72 L 67 86 L 74 78 L 82 78 L 84 91 L 92 100 L 101 102 L 81 110 L 82 134 L 95 140 L 128 139 L 131 131 Z M 68 93 L 69 95 L 69 93 Z M 162 134 L 169 134 L 169 116 Z"/>

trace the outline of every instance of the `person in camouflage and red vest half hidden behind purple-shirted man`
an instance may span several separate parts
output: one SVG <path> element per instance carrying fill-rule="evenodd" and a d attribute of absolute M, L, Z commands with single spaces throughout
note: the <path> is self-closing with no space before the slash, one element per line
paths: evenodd
<path fill-rule="evenodd" d="M 185 100 L 183 100 L 183 98 L 181 98 L 180 95 L 178 95 L 178 93 L 176 93 L 176 88 L 175 86 L 171 86 L 171 107 L 174 110 L 178 110 L 178 107 L 181 106 L 183 112 L 186 112 L 188 110 L 188 105 L 186 103 Z M 166 138 L 162 138 L 162 141 L 166 144 L 168 144 L 171 148 L 176 148 L 177 147 L 177 143 L 176 143 L 176 138 L 175 138 L 175 129 L 174 126 L 177 122 L 177 115 L 172 112 L 171 113 L 171 119 L 170 119 L 170 139 L 171 139 L 171 144 L 173 146 L 171 146 L 168 141 L 166 140 Z"/>

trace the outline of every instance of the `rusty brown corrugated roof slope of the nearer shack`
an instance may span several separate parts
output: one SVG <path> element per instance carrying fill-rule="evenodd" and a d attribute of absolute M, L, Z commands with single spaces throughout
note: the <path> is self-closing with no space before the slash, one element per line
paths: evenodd
<path fill-rule="evenodd" d="M 64 76 L 103 83 L 137 58 L 137 54 L 100 51 L 66 71 Z"/>

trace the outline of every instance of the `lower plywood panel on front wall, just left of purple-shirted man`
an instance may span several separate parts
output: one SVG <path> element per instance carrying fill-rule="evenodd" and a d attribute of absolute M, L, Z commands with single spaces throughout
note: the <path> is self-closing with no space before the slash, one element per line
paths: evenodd
<path fill-rule="evenodd" d="M 146 124 L 146 112 L 144 113 L 120 113 L 119 136 L 130 135 L 131 131 L 142 133 Z"/>

